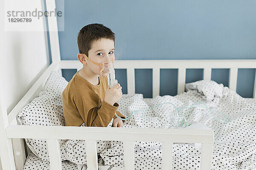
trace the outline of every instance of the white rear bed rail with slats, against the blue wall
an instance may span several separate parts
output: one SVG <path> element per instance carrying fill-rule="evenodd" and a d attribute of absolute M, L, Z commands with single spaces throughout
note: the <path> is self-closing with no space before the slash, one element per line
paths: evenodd
<path fill-rule="evenodd" d="M 61 60 L 61 69 L 82 68 L 79 60 Z M 135 93 L 135 69 L 152 69 L 153 97 L 160 93 L 160 69 L 178 69 L 177 94 L 185 91 L 186 69 L 204 69 L 204 79 L 210 80 L 212 68 L 229 68 L 229 88 L 236 91 L 238 68 L 256 68 L 256 59 L 179 59 L 179 60 L 116 60 L 115 68 L 126 69 L 127 93 Z M 256 97 L 256 79 L 253 97 Z"/>

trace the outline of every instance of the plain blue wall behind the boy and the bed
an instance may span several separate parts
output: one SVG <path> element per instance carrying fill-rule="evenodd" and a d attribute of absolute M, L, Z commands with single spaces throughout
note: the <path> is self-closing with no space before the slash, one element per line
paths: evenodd
<path fill-rule="evenodd" d="M 56 1 L 57 11 L 61 1 Z M 256 59 L 255 0 L 65 0 L 64 31 L 59 31 L 61 59 L 77 59 L 77 34 L 90 23 L 102 23 L 116 34 L 116 59 Z M 74 71 L 63 71 L 67 80 Z M 203 71 L 187 69 L 186 82 Z M 116 71 L 126 89 L 123 74 Z M 161 70 L 160 94 L 175 95 L 177 70 Z M 151 70 L 138 70 L 136 92 L 151 97 Z M 228 69 L 212 79 L 228 86 Z M 237 92 L 252 97 L 255 69 L 239 69 Z M 246 85 L 243 83 L 246 82 Z"/>

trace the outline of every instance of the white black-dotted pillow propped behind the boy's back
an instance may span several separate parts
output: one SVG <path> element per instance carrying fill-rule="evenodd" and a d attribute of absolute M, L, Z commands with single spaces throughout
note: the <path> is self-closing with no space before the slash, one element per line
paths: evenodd
<path fill-rule="evenodd" d="M 68 82 L 61 76 L 60 71 L 52 71 L 39 96 L 20 110 L 17 116 L 19 125 L 64 126 L 62 91 Z M 49 161 L 45 139 L 25 139 L 25 141 L 36 156 L 43 161 Z M 62 160 L 65 160 L 63 147 L 66 142 L 67 140 L 60 140 Z"/>

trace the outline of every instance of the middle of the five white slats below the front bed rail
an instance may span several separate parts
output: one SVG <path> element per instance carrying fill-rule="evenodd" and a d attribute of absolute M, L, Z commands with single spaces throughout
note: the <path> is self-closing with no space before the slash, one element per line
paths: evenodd
<path fill-rule="evenodd" d="M 125 170 L 134 170 L 134 142 L 123 142 Z"/>

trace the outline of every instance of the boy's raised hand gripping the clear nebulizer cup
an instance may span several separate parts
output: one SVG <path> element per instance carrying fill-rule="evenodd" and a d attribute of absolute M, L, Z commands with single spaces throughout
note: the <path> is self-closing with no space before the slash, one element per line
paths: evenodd
<path fill-rule="evenodd" d="M 113 105 L 115 102 L 117 102 L 122 96 L 122 86 L 117 83 L 112 88 L 108 86 L 105 94 L 105 102 L 109 103 L 110 105 Z"/>

